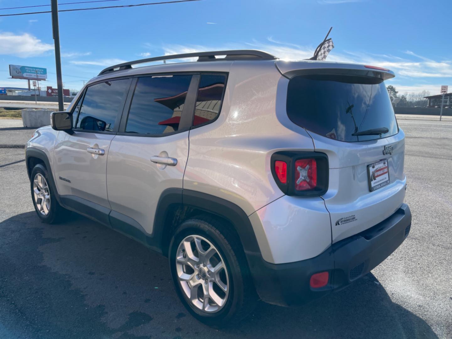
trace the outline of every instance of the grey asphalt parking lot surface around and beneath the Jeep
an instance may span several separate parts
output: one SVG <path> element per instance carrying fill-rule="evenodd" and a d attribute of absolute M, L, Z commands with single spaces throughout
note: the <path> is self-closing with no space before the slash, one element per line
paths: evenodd
<path fill-rule="evenodd" d="M 42 224 L 24 150 L 0 148 L 0 338 L 452 338 L 452 121 L 399 125 L 413 214 L 400 248 L 340 292 L 297 309 L 260 303 L 224 330 L 188 315 L 166 259 L 75 213 Z M 1 126 L 0 145 L 33 133 Z"/>

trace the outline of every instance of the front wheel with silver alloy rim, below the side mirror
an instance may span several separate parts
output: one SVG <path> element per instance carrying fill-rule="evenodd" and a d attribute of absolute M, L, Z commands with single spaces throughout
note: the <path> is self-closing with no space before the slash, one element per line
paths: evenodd
<path fill-rule="evenodd" d="M 47 169 L 42 164 L 34 166 L 30 176 L 31 197 L 34 209 L 42 222 L 55 224 L 63 221 L 68 211 L 58 203 L 56 192 L 53 192 L 52 186 L 49 183 Z"/>

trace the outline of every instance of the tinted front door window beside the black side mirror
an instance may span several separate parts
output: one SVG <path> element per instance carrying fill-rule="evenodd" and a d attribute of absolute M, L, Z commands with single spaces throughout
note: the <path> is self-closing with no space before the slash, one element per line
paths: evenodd
<path fill-rule="evenodd" d="M 80 108 L 76 128 L 86 131 L 112 132 L 122 102 L 130 85 L 129 79 L 105 81 L 89 86 Z"/>

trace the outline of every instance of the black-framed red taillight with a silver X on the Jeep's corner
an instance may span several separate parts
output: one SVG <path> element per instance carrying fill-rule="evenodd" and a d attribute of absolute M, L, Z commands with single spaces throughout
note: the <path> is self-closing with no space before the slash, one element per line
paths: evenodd
<path fill-rule="evenodd" d="M 328 156 L 320 152 L 281 151 L 271 157 L 276 184 L 284 194 L 319 196 L 328 190 Z"/>

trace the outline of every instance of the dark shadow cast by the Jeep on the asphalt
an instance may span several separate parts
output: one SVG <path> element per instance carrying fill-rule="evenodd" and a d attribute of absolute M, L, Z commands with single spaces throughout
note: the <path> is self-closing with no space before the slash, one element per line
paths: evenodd
<path fill-rule="evenodd" d="M 437 338 L 371 273 L 300 308 L 261 302 L 240 325 L 214 330 L 179 302 L 167 259 L 68 217 L 47 225 L 33 211 L 0 222 L 0 337 Z"/>

